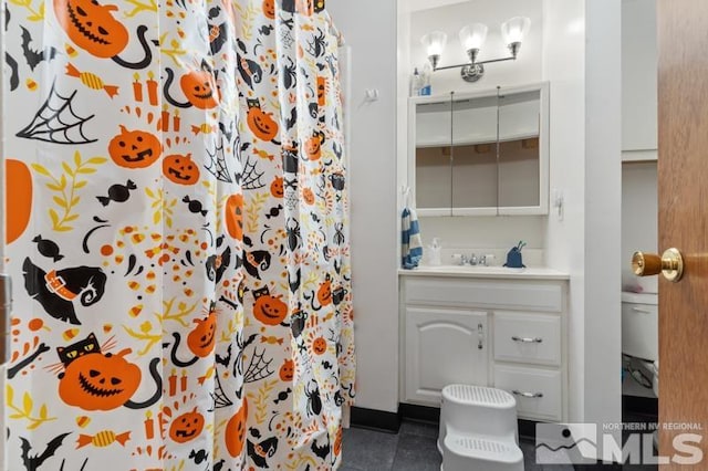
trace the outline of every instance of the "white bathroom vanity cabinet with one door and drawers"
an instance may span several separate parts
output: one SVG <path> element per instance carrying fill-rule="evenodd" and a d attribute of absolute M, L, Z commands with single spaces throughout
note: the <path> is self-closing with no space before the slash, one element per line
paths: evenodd
<path fill-rule="evenodd" d="M 403 402 L 439 407 L 441 389 L 462 383 L 513 394 L 523 419 L 568 417 L 564 274 L 400 279 Z"/>

